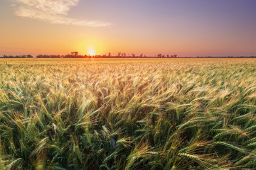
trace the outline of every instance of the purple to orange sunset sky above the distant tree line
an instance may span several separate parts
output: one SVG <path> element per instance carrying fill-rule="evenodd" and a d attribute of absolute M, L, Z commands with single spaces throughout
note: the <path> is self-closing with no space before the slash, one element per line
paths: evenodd
<path fill-rule="evenodd" d="M 255 0 L 1 0 L 1 55 L 256 56 Z"/>

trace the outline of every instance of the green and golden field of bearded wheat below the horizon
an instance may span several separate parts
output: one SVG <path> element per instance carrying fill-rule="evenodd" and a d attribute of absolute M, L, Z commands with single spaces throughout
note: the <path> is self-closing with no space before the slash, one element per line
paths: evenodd
<path fill-rule="evenodd" d="M 256 60 L 0 60 L 0 169 L 256 169 Z"/>

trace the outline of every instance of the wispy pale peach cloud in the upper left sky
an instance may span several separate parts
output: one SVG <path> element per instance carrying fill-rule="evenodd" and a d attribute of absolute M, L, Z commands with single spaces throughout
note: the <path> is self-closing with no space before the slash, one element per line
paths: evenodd
<path fill-rule="evenodd" d="M 39 19 L 48 23 L 73 26 L 106 27 L 111 23 L 87 21 L 68 16 L 73 6 L 78 6 L 80 0 L 14 0 L 16 15 L 26 18 Z"/>

